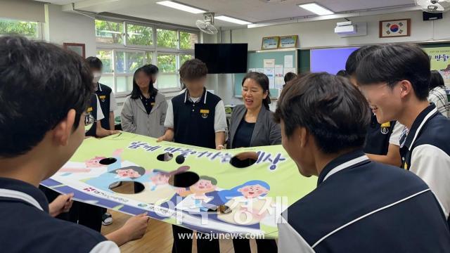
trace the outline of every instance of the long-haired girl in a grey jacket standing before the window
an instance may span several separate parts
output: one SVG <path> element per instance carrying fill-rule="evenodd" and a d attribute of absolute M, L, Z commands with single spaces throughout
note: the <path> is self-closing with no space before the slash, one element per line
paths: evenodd
<path fill-rule="evenodd" d="M 134 72 L 133 91 L 120 113 L 123 131 L 153 138 L 165 134 L 167 101 L 153 86 L 157 74 L 155 65 L 145 65 Z"/>

